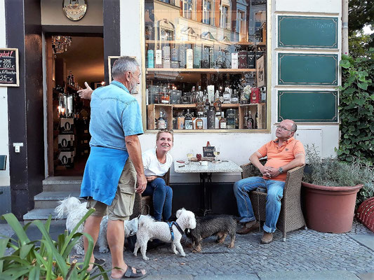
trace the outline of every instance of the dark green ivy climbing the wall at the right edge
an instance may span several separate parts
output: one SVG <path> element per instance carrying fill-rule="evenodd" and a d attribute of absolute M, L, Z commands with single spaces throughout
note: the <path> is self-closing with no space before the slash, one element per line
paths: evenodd
<path fill-rule="evenodd" d="M 340 89 L 340 143 L 338 158 L 352 162 L 374 159 L 374 48 L 354 59 L 342 55 L 343 85 Z"/>

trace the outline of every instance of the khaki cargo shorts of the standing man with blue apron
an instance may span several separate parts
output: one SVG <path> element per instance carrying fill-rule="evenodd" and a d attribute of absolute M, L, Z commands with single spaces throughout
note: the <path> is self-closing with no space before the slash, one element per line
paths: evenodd
<path fill-rule="evenodd" d="M 136 171 L 130 158 L 126 161 L 125 167 L 119 178 L 116 195 L 112 205 L 107 206 L 102 202 L 88 198 L 87 209 L 95 208 L 92 216 L 102 217 L 108 215 L 109 220 L 127 221 L 133 214 L 135 201 Z"/>

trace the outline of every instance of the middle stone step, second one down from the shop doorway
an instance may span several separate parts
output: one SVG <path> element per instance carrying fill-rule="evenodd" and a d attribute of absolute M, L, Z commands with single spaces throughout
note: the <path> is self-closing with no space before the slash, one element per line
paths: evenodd
<path fill-rule="evenodd" d="M 67 197 L 78 197 L 80 191 L 64 191 L 64 192 L 42 192 L 34 196 L 34 209 L 49 209 L 58 206 L 60 200 L 65 200 Z M 83 201 L 81 199 L 81 201 Z"/>

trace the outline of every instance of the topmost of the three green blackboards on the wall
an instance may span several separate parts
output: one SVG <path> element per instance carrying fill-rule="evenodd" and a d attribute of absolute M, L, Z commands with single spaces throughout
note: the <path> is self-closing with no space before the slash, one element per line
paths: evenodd
<path fill-rule="evenodd" d="M 338 18 L 279 15 L 279 48 L 338 48 Z"/>

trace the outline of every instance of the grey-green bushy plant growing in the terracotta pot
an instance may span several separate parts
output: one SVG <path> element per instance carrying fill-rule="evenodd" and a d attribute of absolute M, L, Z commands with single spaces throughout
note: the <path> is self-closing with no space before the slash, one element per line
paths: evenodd
<path fill-rule="evenodd" d="M 342 162 L 337 158 L 321 159 L 315 146 L 306 147 L 306 156 L 310 172 L 305 172 L 303 180 L 321 186 L 356 186 L 363 184 L 357 195 L 356 204 L 374 194 L 374 168 L 370 163 L 354 158 L 351 162 Z"/>

